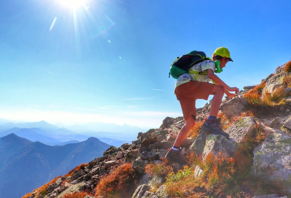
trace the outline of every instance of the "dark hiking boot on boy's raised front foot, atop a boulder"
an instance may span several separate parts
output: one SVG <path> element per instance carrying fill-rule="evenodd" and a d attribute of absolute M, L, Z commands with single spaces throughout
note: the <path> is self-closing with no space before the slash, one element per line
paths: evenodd
<path fill-rule="evenodd" d="M 226 137 L 227 139 L 229 139 L 229 134 L 224 132 L 222 129 L 221 129 L 221 118 L 210 118 L 210 119 L 207 119 L 203 125 L 201 126 L 201 129 L 205 132 L 208 132 L 208 133 L 212 133 L 214 135 L 223 135 L 224 137 Z"/>

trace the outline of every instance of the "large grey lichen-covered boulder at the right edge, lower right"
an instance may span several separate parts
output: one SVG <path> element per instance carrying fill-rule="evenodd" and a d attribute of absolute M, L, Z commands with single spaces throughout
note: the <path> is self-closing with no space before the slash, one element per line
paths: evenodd
<path fill-rule="evenodd" d="M 253 151 L 252 169 L 272 169 L 270 178 L 283 181 L 291 193 L 291 136 L 272 128 L 268 131 L 271 134 Z"/>

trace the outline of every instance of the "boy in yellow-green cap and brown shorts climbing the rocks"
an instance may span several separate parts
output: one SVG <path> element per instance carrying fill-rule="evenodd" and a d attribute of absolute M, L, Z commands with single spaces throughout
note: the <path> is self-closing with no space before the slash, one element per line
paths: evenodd
<path fill-rule="evenodd" d="M 230 58 L 230 53 L 227 48 L 219 47 L 214 51 L 212 60 L 203 60 L 195 63 L 189 68 L 189 73 L 180 75 L 176 81 L 175 95 L 180 101 L 186 124 L 181 128 L 174 146 L 169 149 L 166 154 L 166 159 L 168 161 L 185 162 L 180 153 L 180 146 L 184 139 L 187 138 L 189 131 L 195 126 L 196 99 L 208 100 L 209 95 L 214 95 L 211 102 L 209 117 L 203 123 L 201 129 L 208 133 L 223 135 L 227 139 L 229 138 L 228 133 L 221 129 L 221 118 L 217 119 L 217 114 L 224 93 L 229 97 L 233 97 L 236 95 L 229 91 L 235 91 L 235 93 L 238 93 L 239 89 L 237 87 L 228 86 L 214 74 L 216 68 L 220 70 L 219 67 L 216 67 L 214 61 L 219 61 L 220 69 L 222 69 L 228 61 L 233 60 Z M 202 75 L 202 73 L 200 73 L 200 75 L 199 72 L 206 72 L 207 75 Z M 215 82 L 215 84 L 209 83 L 210 81 Z"/>

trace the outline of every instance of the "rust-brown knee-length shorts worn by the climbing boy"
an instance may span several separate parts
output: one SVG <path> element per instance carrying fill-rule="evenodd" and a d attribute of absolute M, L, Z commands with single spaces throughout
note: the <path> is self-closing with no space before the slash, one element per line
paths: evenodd
<path fill-rule="evenodd" d="M 185 120 L 192 115 L 194 116 L 194 120 L 196 120 L 196 98 L 208 100 L 214 86 L 215 84 L 209 82 L 191 80 L 176 87 L 175 95 L 180 102 Z"/>

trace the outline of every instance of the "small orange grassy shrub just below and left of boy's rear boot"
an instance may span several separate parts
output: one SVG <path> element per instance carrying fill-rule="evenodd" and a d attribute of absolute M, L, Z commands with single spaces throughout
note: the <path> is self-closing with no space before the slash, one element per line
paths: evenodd
<path fill-rule="evenodd" d="M 173 172 L 173 168 L 168 165 L 168 161 L 166 158 L 162 159 L 161 163 L 155 164 L 147 164 L 145 166 L 145 172 L 150 175 L 156 175 L 160 177 L 166 177 L 169 173 Z"/>

